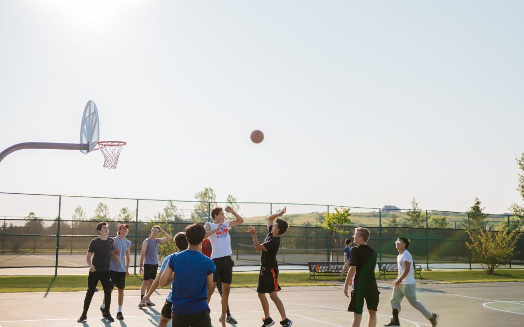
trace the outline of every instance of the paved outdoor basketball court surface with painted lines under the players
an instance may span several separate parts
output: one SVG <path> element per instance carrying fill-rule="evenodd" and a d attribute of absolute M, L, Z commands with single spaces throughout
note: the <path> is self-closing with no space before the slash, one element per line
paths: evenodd
<path fill-rule="evenodd" d="M 391 287 L 379 286 L 380 304 L 378 326 L 390 318 L 389 297 Z M 478 283 L 419 285 L 419 300 L 430 311 L 440 313 L 439 326 L 522 326 L 524 325 L 524 283 Z M 156 326 L 167 290 L 151 297 L 154 307 L 139 309 L 138 290 L 126 292 L 123 321 L 108 323 L 102 318 L 99 306 L 102 292 L 96 292 L 83 326 Z M 0 326 L 80 326 L 76 322 L 82 311 L 85 292 L 50 292 L 0 294 Z M 286 287 L 279 296 L 285 303 L 293 326 L 349 326 L 352 313 L 347 312 L 348 299 L 342 286 Z M 112 301 L 116 315 L 116 296 Z M 220 296 L 211 300 L 211 318 L 219 327 Z M 271 303 L 271 301 L 270 301 Z M 260 326 L 263 313 L 256 292 L 252 288 L 232 289 L 230 307 L 237 326 Z M 271 316 L 279 319 L 271 303 Z M 414 310 L 407 301 L 402 302 L 402 326 L 430 326 L 428 320 Z M 364 320 L 367 317 L 364 315 Z M 232 326 L 227 324 L 228 326 Z M 276 324 L 278 325 L 278 323 Z M 366 325 L 364 322 L 363 326 Z M 233 325 L 234 326 L 234 325 Z"/>

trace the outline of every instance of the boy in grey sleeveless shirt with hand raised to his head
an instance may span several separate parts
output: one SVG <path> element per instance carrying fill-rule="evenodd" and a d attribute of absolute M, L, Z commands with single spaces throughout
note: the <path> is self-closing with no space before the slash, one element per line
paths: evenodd
<path fill-rule="evenodd" d="M 165 238 L 158 238 L 158 235 L 162 233 L 165 234 Z M 144 243 L 142 243 L 142 253 L 140 254 L 140 270 L 139 273 L 144 273 L 144 280 L 142 281 L 142 288 L 140 291 L 140 302 L 138 302 L 138 307 L 143 307 L 141 305 L 141 300 L 144 295 L 147 294 L 153 281 L 157 278 L 158 270 L 158 245 L 171 241 L 172 236 L 166 233 L 160 228 L 159 225 L 154 225 L 151 228 L 151 236 L 147 238 Z M 147 300 L 146 305 L 154 306 L 155 303 L 151 300 Z"/>

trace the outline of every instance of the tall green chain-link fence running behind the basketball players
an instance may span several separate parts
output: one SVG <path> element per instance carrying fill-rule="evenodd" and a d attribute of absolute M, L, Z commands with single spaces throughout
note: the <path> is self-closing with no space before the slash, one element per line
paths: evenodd
<path fill-rule="evenodd" d="M 190 223 L 211 221 L 210 211 L 215 205 L 233 205 L 245 218 L 244 224 L 255 225 L 260 240 L 267 234 L 267 215 L 286 206 L 286 220 L 292 227 L 281 240 L 277 258 L 281 265 L 342 260 L 341 249 L 330 249 L 335 236 L 321 223 L 326 212 L 344 206 L 0 193 L 0 275 L 86 274 L 87 248 L 97 236 L 95 226 L 100 221 L 110 223 L 111 235 L 116 234 L 118 224 L 130 225 L 130 272 L 138 272 L 141 243 L 149 237 L 152 225 L 158 223 L 174 235 Z M 379 260 L 395 260 L 394 241 L 406 236 L 412 241 L 409 250 L 414 261 L 426 268 L 475 268 L 464 245 L 467 229 L 524 230 L 524 217 L 511 215 L 344 208 L 351 209 L 351 223 L 336 237 L 350 238 L 354 227 L 367 227 L 372 232 L 369 244 L 377 249 Z M 260 253 L 245 228 L 233 228 L 230 234 L 235 264 L 259 265 Z M 509 268 L 524 268 L 524 237 L 517 251 L 520 253 L 511 258 Z M 162 256 L 162 251 L 159 254 Z"/>

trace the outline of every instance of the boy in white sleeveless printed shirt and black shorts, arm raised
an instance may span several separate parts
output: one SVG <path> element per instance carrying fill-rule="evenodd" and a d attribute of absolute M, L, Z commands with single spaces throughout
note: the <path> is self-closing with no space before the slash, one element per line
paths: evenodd
<path fill-rule="evenodd" d="M 232 213 L 235 219 L 224 220 L 224 211 Z M 233 251 L 231 251 L 229 230 L 236 225 L 242 224 L 244 219 L 230 206 L 226 206 L 224 210 L 222 210 L 222 207 L 214 207 L 211 210 L 211 218 L 213 218 L 213 222 L 206 222 L 204 228 L 206 231 L 205 238 L 209 238 L 213 247 L 211 259 L 215 263 L 216 270 L 213 274 L 213 286 L 208 290 L 208 303 L 211 301 L 211 295 L 215 291 L 216 282 L 220 279 L 222 282 L 222 314 L 219 321 L 225 327 L 227 302 L 233 279 L 233 266 L 235 265 L 231 258 Z"/>

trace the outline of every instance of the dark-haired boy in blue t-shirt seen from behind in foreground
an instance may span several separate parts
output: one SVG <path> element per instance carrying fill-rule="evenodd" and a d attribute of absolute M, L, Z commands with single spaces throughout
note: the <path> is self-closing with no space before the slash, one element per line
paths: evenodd
<path fill-rule="evenodd" d="M 160 286 L 167 286 L 174 273 L 171 296 L 173 326 L 211 327 L 208 288 L 213 285 L 216 267 L 210 258 L 200 253 L 204 236 L 205 229 L 201 224 L 186 227 L 188 250 L 173 253 L 160 277 Z"/>

